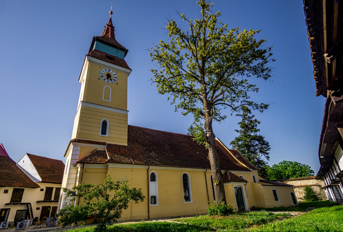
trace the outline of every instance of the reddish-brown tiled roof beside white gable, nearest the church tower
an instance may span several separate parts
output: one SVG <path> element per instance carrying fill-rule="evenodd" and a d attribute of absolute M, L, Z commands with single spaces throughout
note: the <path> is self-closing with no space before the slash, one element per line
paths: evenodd
<path fill-rule="evenodd" d="M 64 164 L 58 159 L 26 153 L 35 166 L 42 182 L 62 184 Z"/>

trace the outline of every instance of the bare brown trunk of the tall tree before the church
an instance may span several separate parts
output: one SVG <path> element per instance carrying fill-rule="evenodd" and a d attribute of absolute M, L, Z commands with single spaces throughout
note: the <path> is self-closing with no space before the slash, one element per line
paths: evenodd
<path fill-rule="evenodd" d="M 212 117 L 207 113 L 208 117 L 205 114 L 205 124 L 204 128 L 206 130 L 206 139 L 209 143 L 209 160 L 211 164 L 211 172 L 213 178 L 213 188 L 214 188 L 214 198 L 217 204 L 220 204 L 221 201 L 224 201 L 226 204 L 223 174 L 220 168 L 219 156 L 215 146 L 215 139 L 212 129 Z"/>

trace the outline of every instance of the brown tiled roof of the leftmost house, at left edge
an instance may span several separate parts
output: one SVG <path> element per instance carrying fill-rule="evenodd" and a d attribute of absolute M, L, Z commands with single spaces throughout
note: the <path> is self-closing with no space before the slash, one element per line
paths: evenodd
<path fill-rule="evenodd" d="M 39 188 L 10 158 L 0 144 L 0 187 Z"/>

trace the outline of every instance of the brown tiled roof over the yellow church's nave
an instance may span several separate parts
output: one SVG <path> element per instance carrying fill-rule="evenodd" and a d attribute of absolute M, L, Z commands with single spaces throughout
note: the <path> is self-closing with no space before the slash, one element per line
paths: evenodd
<path fill-rule="evenodd" d="M 78 141 L 79 142 L 79 141 Z M 94 142 L 96 143 L 96 142 Z M 243 156 L 216 140 L 222 170 L 250 171 Z M 188 168 L 208 168 L 208 150 L 192 136 L 128 125 L 128 145 L 107 144 L 106 151 L 95 150 L 78 163 L 120 163 Z M 238 162 L 239 161 L 239 162 Z"/>

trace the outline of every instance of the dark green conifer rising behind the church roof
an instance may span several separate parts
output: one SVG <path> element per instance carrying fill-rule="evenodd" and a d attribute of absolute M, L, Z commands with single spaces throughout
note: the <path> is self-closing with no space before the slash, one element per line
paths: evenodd
<path fill-rule="evenodd" d="M 264 136 L 257 134 L 260 129 L 257 126 L 261 123 L 255 119 L 255 115 L 251 115 L 251 110 L 242 106 L 242 113 L 237 114 L 242 120 L 238 122 L 239 130 L 235 130 L 238 136 L 235 137 L 230 145 L 233 149 L 239 151 L 249 163 L 259 169 L 260 176 L 265 176 L 268 162 L 263 158 L 269 160 L 270 146 L 268 141 L 265 141 Z"/>

